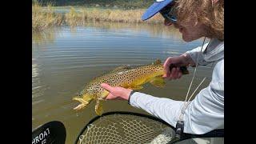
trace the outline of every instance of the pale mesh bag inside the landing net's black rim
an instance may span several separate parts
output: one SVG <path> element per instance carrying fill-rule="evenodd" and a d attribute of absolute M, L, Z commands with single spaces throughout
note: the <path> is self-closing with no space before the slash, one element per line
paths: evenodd
<path fill-rule="evenodd" d="M 78 143 L 167 143 L 174 130 L 150 116 L 109 114 L 89 123 L 79 135 Z"/>

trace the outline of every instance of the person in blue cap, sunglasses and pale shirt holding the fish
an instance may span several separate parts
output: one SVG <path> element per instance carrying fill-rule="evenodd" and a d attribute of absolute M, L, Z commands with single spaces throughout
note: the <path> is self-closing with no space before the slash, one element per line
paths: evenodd
<path fill-rule="evenodd" d="M 182 77 L 180 66 L 198 66 L 214 63 L 210 85 L 201 90 L 183 113 L 184 133 L 205 134 L 224 127 L 224 0 L 158 0 L 154 2 L 142 20 L 157 13 L 165 18 L 165 26 L 174 24 L 186 42 L 198 38 L 210 38 L 210 42 L 187 51 L 164 62 L 167 79 Z M 201 50 L 202 49 L 202 50 Z M 177 66 L 169 70 L 170 64 Z M 106 99 L 128 100 L 131 106 L 146 110 L 158 118 L 177 126 L 181 121 L 184 102 L 169 98 L 157 98 L 148 94 L 134 92 L 122 87 L 102 87 L 110 92 Z M 132 92 L 133 91 L 133 92 Z"/>

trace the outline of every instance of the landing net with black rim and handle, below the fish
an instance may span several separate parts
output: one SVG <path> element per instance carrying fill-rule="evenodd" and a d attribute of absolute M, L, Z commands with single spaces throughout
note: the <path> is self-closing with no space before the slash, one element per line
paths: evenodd
<path fill-rule="evenodd" d="M 213 141 L 221 138 L 217 143 L 223 143 L 224 129 L 212 130 L 206 134 L 184 133 L 181 138 L 175 136 L 175 128 L 161 119 L 146 114 L 114 111 L 90 120 L 78 134 L 74 143 L 172 144 L 176 142 L 191 143 L 184 141 L 191 138 L 214 138 Z"/>

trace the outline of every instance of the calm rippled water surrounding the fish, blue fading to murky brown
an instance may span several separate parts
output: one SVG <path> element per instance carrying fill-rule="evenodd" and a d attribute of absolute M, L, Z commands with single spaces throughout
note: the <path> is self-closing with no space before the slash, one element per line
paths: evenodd
<path fill-rule="evenodd" d="M 137 24 L 90 22 L 85 26 L 62 26 L 33 34 L 32 58 L 32 126 L 57 120 L 66 126 L 66 143 L 73 143 L 82 127 L 94 118 L 94 103 L 74 111 L 78 102 L 71 99 L 86 82 L 120 65 L 141 65 L 202 45 L 202 39 L 182 42 L 172 27 Z M 166 87 L 146 84 L 141 90 L 157 97 L 183 100 L 190 85 L 190 74 L 176 81 L 166 81 Z M 210 66 L 201 66 L 194 81 L 195 87 L 210 82 Z M 104 102 L 104 111 L 126 110 L 146 114 L 127 102 Z"/>

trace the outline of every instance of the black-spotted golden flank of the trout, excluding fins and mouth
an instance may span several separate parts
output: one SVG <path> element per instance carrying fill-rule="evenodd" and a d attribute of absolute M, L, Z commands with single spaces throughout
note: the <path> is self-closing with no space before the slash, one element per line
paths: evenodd
<path fill-rule="evenodd" d="M 110 86 L 136 86 L 137 84 L 147 82 L 145 79 L 157 75 L 155 72 L 158 70 L 163 70 L 162 65 L 137 66 L 112 71 L 108 74 L 103 74 L 101 77 L 94 78 L 93 81 L 86 85 L 84 92 L 99 98 L 106 92 L 101 86 L 102 83 L 107 83 Z"/>

